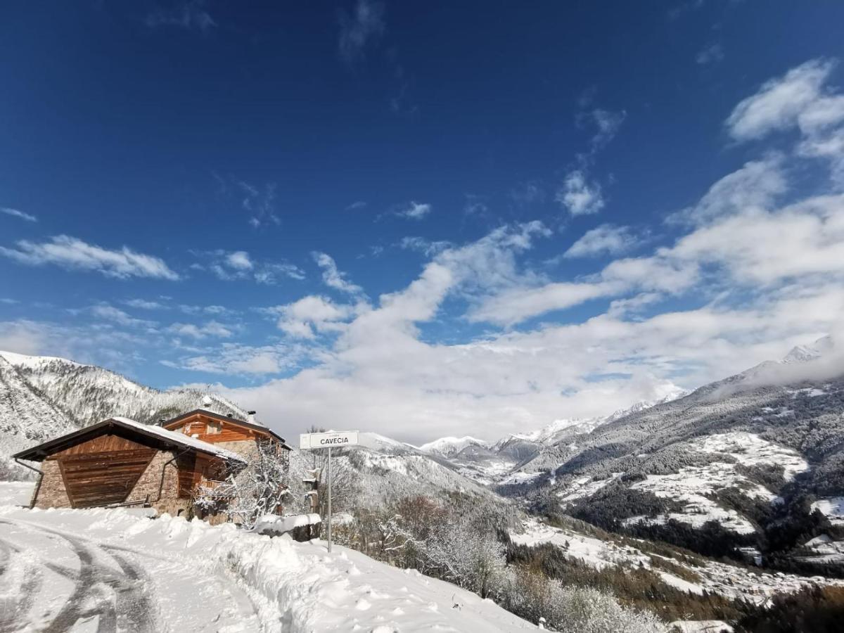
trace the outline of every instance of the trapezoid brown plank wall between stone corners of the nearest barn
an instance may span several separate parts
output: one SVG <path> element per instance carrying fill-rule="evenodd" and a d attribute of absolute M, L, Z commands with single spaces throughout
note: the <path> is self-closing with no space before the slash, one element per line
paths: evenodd
<path fill-rule="evenodd" d="M 73 449 L 68 449 L 70 450 Z M 87 508 L 122 503 L 138 483 L 155 453 L 154 448 L 142 446 L 133 450 L 88 452 L 59 457 L 59 468 L 62 470 L 71 504 L 74 508 Z"/>

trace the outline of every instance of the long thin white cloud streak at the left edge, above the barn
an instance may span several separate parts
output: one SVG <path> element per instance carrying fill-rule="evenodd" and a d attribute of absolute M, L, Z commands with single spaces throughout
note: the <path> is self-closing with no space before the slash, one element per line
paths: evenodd
<path fill-rule="evenodd" d="M 51 263 L 61 268 L 96 271 L 116 279 L 179 279 L 179 275 L 159 257 L 134 252 L 127 246 L 111 251 L 68 235 L 56 235 L 40 244 L 21 240 L 17 242 L 17 249 L 0 246 L 0 255 L 30 266 Z"/>

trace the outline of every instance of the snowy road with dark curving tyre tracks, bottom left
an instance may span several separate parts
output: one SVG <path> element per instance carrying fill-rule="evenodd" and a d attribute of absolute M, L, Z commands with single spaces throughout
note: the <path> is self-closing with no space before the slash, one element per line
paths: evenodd
<path fill-rule="evenodd" d="M 186 563 L 0 519 L 0 631 L 262 629 L 239 587 L 222 577 L 197 575 Z M 170 613 L 166 604 L 174 598 L 176 613 Z M 203 609 L 190 609 L 189 619 L 186 598 L 203 603 Z"/>

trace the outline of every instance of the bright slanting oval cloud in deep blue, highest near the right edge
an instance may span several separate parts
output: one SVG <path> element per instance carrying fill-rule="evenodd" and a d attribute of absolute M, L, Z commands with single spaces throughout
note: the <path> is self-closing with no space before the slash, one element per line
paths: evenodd
<path fill-rule="evenodd" d="M 798 124 L 801 116 L 824 98 L 823 84 L 833 68 L 833 62 L 816 59 L 766 81 L 730 114 L 729 133 L 736 140 L 746 141 Z M 809 115 L 809 122 L 813 120 Z"/>

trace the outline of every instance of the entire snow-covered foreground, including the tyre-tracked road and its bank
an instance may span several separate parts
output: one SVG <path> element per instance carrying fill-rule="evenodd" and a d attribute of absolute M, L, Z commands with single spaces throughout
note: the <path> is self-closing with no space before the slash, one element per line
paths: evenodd
<path fill-rule="evenodd" d="M 4 487 L 8 496 L 8 486 Z M 514 631 L 452 584 L 323 541 L 127 510 L 0 507 L 0 630 Z"/>

